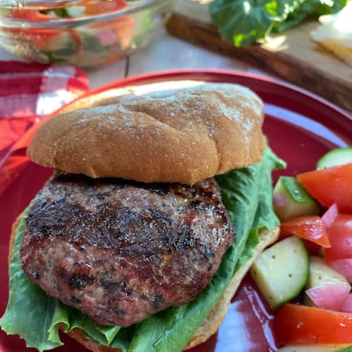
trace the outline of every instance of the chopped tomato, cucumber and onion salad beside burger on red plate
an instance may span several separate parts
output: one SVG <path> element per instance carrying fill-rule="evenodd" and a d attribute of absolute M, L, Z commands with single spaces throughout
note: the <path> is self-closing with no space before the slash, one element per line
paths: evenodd
<path fill-rule="evenodd" d="M 276 312 L 280 351 L 352 351 L 352 148 L 279 177 L 274 208 L 279 241 L 250 274 Z"/>

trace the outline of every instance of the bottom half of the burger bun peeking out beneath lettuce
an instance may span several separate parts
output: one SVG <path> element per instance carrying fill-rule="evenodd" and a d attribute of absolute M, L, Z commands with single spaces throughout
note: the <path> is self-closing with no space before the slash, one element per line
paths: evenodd
<path fill-rule="evenodd" d="M 8 265 L 11 263 L 13 245 L 15 243 L 15 236 L 17 232 L 18 225 L 22 219 L 22 215 L 18 216 L 12 226 L 10 246 L 8 251 Z M 224 293 L 220 297 L 218 303 L 215 304 L 206 320 L 203 321 L 202 325 L 197 329 L 194 336 L 191 338 L 185 349 L 192 348 L 197 346 L 204 341 L 206 341 L 211 335 L 215 334 L 220 327 L 222 320 L 224 320 L 227 310 L 231 306 L 231 299 L 237 291 L 239 284 L 241 284 L 242 279 L 248 272 L 254 260 L 260 252 L 262 252 L 267 246 L 274 243 L 279 237 L 279 227 L 275 227 L 273 230 L 260 230 L 259 232 L 259 243 L 254 250 L 253 256 L 248 260 L 244 265 L 239 268 L 236 272 L 230 284 L 225 289 Z M 102 346 L 95 344 L 93 341 L 90 341 L 84 337 L 84 334 L 80 332 L 80 329 L 73 329 L 70 332 L 67 332 L 68 336 L 72 337 L 84 347 L 88 348 L 93 352 L 120 352 L 120 348 L 111 348 L 108 346 Z"/>

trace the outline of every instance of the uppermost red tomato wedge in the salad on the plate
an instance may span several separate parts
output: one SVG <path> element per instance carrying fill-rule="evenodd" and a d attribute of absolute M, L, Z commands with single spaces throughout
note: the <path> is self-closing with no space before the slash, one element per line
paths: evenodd
<path fill-rule="evenodd" d="M 352 214 L 352 163 L 305 172 L 296 177 L 323 206 L 337 203 L 339 213 Z"/>

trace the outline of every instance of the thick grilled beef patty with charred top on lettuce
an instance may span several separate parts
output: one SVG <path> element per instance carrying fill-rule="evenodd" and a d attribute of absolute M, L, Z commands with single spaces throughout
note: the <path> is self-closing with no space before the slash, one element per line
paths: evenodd
<path fill-rule="evenodd" d="M 25 222 L 25 273 L 103 325 L 128 326 L 195 298 L 234 229 L 214 179 L 140 184 L 60 175 Z"/>

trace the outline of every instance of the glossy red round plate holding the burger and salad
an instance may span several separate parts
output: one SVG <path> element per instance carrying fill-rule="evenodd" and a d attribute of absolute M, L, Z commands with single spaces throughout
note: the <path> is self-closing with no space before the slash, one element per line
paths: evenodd
<path fill-rule="evenodd" d="M 275 153 L 288 163 L 287 170 L 281 171 L 281 174 L 294 175 L 311 170 L 315 168 L 318 158 L 329 149 L 352 145 L 351 115 L 313 94 L 258 75 L 219 70 L 156 73 L 121 80 L 95 89 L 88 95 L 130 84 L 190 79 L 244 84 L 263 99 L 266 111 L 265 134 Z M 25 140 L 24 138 L 23 141 Z M 18 158 L 25 158 L 24 155 L 24 149 L 13 153 Z M 0 195 L 0 315 L 3 314 L 8 299 L 7 253 L 11 224 L 51 172 L 52 170 L 28 162 L 20 175 L 11 175 L 13 182 Z M 275 177 L 277 175 L 275 173 Z M 249 277 L 246 277 L 218 333 L 205 344 L 194 348 L 194 351 L 275 351 L 271 320 L 272 313 L 263 303 Z M 87 351 L 68 337 L 63 340 L 65 346 L 56 351 Z M 8 337 L 1 331 L 0 351 L 24 352 L 30 349 L 25 348 L 23 340 L 17 336 Z"/>

